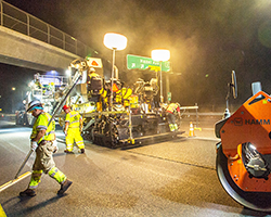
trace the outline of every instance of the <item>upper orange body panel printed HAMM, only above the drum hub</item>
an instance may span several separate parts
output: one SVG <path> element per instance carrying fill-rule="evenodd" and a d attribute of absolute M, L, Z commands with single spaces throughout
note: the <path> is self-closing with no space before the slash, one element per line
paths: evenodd
<path fill-rule="evenodd" d="M 253 143 L 261 154 L 271 154 L 271 98 L 263 91 L 248 99 L 220 129 L 225 156 L 235 156 L 237 145 Z"/>

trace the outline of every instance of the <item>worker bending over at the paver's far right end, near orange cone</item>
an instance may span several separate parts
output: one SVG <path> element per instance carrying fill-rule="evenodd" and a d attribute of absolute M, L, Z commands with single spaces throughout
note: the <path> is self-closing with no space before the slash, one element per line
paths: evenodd
<path fill-rule="evenodd" d="M 170 131 L 178 131 L 178 125 L 176 123 L 177 115 L 181 118 L 180 113 L 180 104 L 179 103 L 170 103 L 166 108 L 168 124 Z"/>

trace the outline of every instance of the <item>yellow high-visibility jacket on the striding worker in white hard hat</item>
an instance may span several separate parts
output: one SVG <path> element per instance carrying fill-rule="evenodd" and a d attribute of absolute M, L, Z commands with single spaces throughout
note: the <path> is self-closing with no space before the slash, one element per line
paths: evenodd
<path fill-rule="evenodd" d="M 38 143 L 41 142 L 42 140 L 46 140 L 46 141 L 54 140 L 54 138 L 55 138 L 55 122 L 52 120 L 51 124 L 48 126 L 50 119 L 51 119 L 51 115 L 46 113 L 46 112 L 42 112 L 37 117 L 36 122 L 34 123 L 30 139 L 36 138 L 38 132 L 40 130 L 44 129 L 46 135 L 38 141 Z"/>

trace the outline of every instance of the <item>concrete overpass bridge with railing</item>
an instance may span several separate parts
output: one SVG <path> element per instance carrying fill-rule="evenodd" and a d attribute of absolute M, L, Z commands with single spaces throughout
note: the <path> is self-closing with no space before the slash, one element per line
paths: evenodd
<path fill-rule="evenodd" d="M 0 63 L 63 73 L 73 60 L 96 53 L 74 37 L 0 0 Z"/>

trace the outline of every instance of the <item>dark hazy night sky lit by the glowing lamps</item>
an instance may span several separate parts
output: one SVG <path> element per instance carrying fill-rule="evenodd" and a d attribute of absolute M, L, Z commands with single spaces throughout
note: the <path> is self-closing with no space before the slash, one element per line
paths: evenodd
<path fill-rule="evenodd" d="M 199 108 L 224 105 L 231 71 L 235 71 L 241 105 L 251 95 L 253 81 L 271 92 L 271 1 L 268 0 L 7 0 L 7 2 L 81 40 L 108 60 L 104 34 L 128 38 L 116 54 L 120 79 L 137 77 L 126 69 L 126 54 L 151 56 L 171 52 L 172 101 Z M 4 71 L 3 71 L 4 68 Z M 1 66 L 1 75 L 8 66 Z M 14 69 L 14 67 L 12 67 Z M 14 72 L 13 69 L 8 72 Z M 34 72 L 15 68 L 16 73 Z M 11 78 L 13 85 L 16 80 Z M 10 85 L 9 84 L 9 85 Z M 1 81 L 1 86 L 5 86 Z M 3 88 L 0 90 L 2 91 Z M 2 93 L 1 93 L 2 94 Z"/>

